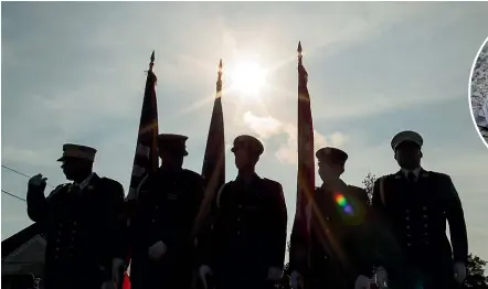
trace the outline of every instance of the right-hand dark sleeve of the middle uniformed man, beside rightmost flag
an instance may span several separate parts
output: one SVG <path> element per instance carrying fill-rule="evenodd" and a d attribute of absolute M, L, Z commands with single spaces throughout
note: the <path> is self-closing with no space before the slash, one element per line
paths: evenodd
<path fill-rule="evenodd" d="M 286 253 L 286 226 L 288 214 L 283 188 L 278 183 L 269 199 L 269 265 L 283 268 Z"/>

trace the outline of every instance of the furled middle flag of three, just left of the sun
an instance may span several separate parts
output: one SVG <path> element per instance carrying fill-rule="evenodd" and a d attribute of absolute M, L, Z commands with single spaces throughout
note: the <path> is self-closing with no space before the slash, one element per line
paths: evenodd
<path fill-rule="evenodd" d="M 194 223 L 193 234 L 198 234 L 198 231 L 203 225 L 203 222 L 205 222 L 215 193 L 225 183 L 224 115 L 222 109 L 222 60 L 219 62 L 216 93 L 215 99 L 213 100 L 209 136 L 206 138 L 202 176 L 205 185 L 205 196 Z"/>

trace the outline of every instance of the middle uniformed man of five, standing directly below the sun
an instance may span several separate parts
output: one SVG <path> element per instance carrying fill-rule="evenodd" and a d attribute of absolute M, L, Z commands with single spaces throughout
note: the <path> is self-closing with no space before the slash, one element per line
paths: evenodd
<path fill-rule="evenodd" d="M 224 184 L 214 204 L 211 240 L 200 267 L 205 286 L 215 289 L 275 288 L 283 274 L 287 212 L 282 185 L 255 172 L 264 147 L 252 136 L 238 136 L 232 152 L 238 174 Z"/>

